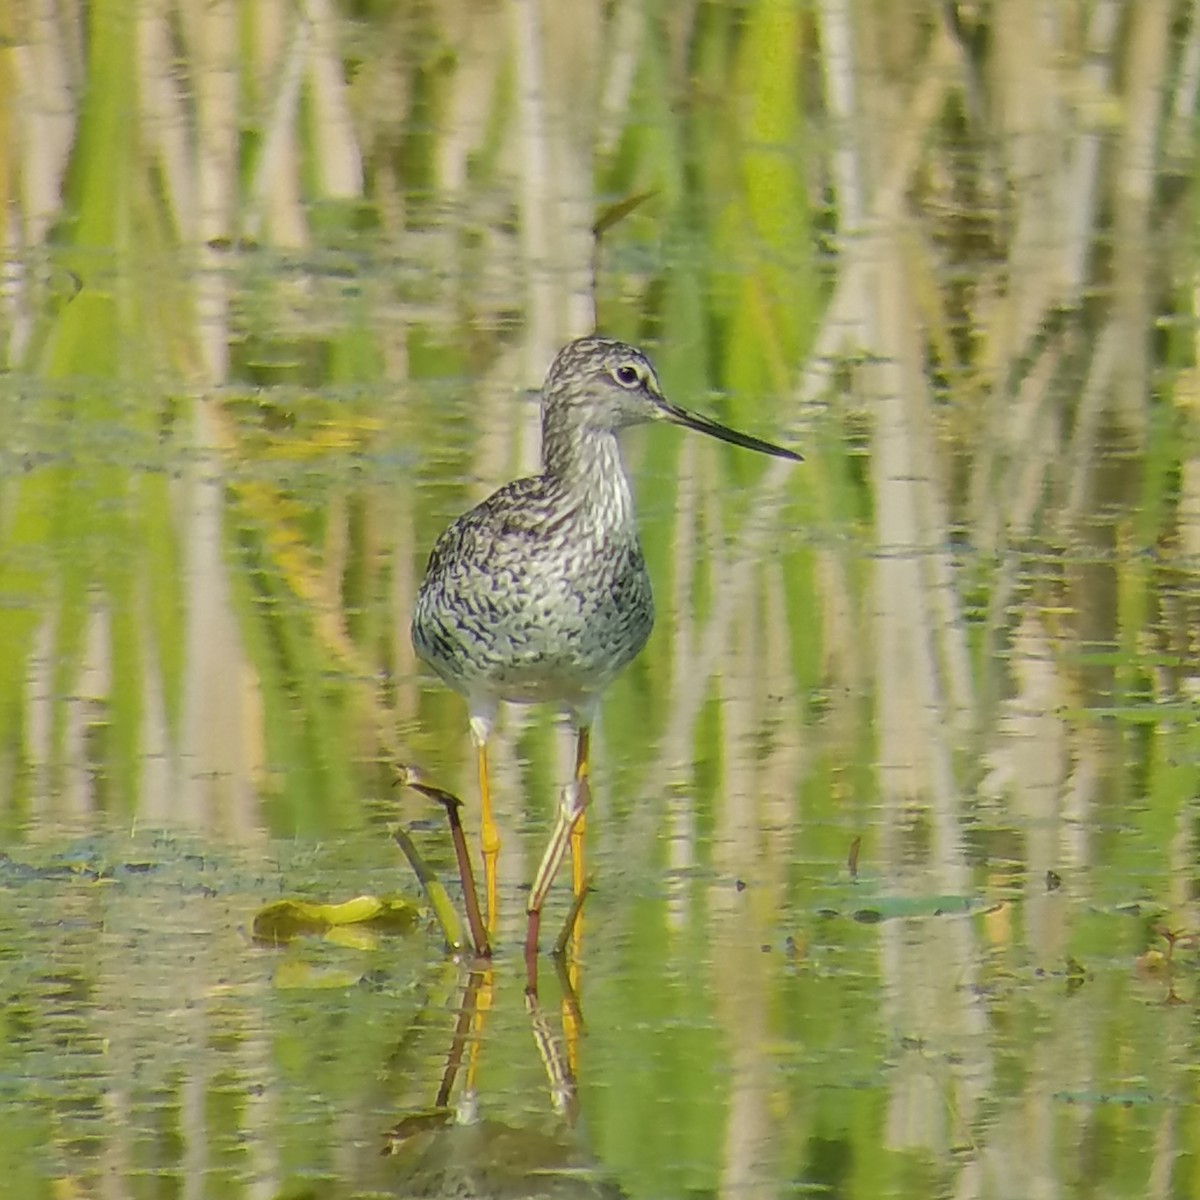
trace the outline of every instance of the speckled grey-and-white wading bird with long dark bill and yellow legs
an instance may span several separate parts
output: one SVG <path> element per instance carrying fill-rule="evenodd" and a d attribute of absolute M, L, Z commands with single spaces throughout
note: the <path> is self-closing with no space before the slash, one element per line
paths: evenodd
<path fill-rule="evenodd" d="M 546 893 L 571 845 L 583 889 L 589 732 L 604 690 L 646 644 L 654 598 L 617 434 L 667 420 L 733 445 L 799 461 L 782 446 L 671 404 L 641 350 L 607 337 L 570 342 L 541 389 L 540 475 L 505 484 L 437 540 L 413 613 L 413 646 L 467 698 L 482 804 L 487 926 L 496 857 L 487 739 L 499 702 L 560 706 L 576 730 L 575 778 L 529 893 L 534 948 Z"/>

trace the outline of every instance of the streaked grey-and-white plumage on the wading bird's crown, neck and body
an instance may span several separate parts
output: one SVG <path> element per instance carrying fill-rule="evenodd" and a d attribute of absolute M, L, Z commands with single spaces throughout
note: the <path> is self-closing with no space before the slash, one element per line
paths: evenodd
<path fill-rule="evenodd" d="M 560 398 L 581 370 L 637 352 L 600 338 L 569 349 L 546 382 L 546 472 L 458 517 L 433 547 L 416 600 L 413 644 L 467 696 L 476 724 L 490 725 L 500 700 L 552 701 L 590 724 L 654 624 L 616 431 L 572 425 Z"/>

